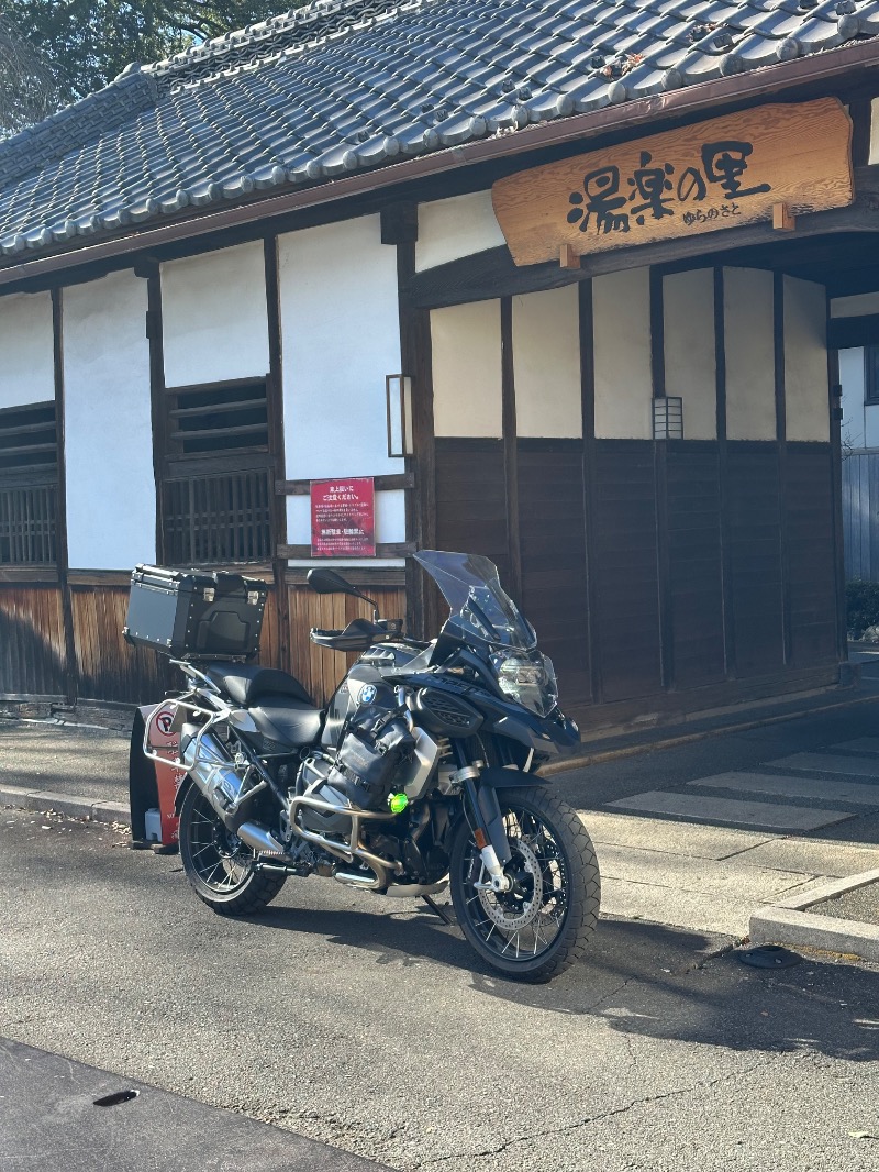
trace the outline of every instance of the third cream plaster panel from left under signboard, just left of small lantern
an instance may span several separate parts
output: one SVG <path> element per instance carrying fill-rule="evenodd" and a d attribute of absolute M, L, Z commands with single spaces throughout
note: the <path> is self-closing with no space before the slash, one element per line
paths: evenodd
<path fill-rule="evenodd" d="M 652 440 L 649 270 L 597 277 L 592 289 L 595 436 Z"/>

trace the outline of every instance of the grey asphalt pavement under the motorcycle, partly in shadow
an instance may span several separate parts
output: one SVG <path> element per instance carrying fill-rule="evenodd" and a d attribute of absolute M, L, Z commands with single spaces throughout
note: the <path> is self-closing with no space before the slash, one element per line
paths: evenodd
<path fill-rule="evenodd" d="M 582 962 L 523 987 L 425 907 L 312 878 L 223 919 L 178 858 L 125 846 L 108 825 L 0 818 L 0 1035 L 118 1077 L 101 1088 L 134 1079 L 397 1170 L 874 1172 L 877 966 L 758 970 L 722 934 L 608 917 Z M 108 1109 L 121 1152 L 138 1103 Z"/>

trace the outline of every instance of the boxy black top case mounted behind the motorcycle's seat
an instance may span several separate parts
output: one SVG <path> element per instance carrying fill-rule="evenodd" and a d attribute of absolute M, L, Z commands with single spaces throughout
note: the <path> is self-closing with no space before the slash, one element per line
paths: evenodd
<path fill-rule="evenodd" d="M 250 659 L 267 593 L 264 581 L 241 574 L 137 566 L 122 633 L 172 659 Z"/>

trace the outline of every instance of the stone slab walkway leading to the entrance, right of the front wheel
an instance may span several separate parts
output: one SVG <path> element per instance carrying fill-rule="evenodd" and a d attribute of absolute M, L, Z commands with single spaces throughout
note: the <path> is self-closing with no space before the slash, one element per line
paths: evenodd
<path fill-rule="evenodd" d="M 756 906 L 879 868 L 879 846 L 804 837 L 864 813 L 879 815 L 879 737 L 648 790 L 582 818 L 605 912 L 743 938 Z"/>

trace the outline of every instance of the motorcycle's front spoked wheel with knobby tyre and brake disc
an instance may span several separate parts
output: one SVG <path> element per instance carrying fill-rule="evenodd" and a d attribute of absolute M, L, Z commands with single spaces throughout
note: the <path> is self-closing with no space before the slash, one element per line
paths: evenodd
<path fill-rule="evenodd" d="M 538 983 L 578 960 L 598 922 L 601 886 L 592 840 L 574 811 L 539 788 L 499 790 L 512 859 L 509 892 L 490 877 L 470 827 L 451 852 L 451 897 L 464 935 L 492 968 Z"/>

